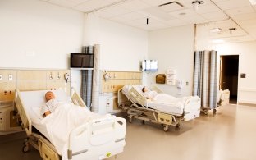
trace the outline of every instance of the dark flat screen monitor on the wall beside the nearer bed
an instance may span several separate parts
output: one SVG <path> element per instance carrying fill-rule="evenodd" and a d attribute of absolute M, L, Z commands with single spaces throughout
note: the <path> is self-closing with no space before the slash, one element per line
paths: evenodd
<path fill-rule="evenodd" d="M 71 53 L 71 68 L 94 68 L 94 54 Z"/>

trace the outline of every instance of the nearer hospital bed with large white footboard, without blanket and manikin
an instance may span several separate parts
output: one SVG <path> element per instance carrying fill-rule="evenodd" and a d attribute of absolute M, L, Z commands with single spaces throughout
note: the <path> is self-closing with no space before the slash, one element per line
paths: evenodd
<path fill-rule="evenodd" d="M 94 160 L 116 156 L 123 151 L 126 144 L 126 120 L 112 115 L 98 115 L 83 122 L 68 133 L 65 146 L 57 149 L 56 145 L 53 145 L 53 136 L 48 128 L 40 122 L 42 119 L 39 117 L 39 108 L 45 103 L 45 93 L 44 90 L 16 90 L 16 108 L 27 135 L 24 153 L 33 146 L 39 150 L 43 160 Z M 53 93 L 58 101 L 86 107 L 75 91 L 72 92 L 71 98 L 62 89 L 53 90 Z"/>

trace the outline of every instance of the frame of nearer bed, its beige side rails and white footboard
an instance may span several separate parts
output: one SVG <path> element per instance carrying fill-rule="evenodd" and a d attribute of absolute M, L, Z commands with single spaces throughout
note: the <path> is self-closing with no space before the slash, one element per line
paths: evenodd
<path fill-rule="evenodd" d="M 71 99 L 75 105 L 86 107 L 79 94 L 74 91 Z M 29 114 L 25 111 L 20 91 L 16 90 L 16 108 L 21 118 L 21 126 L 25 130 L 27 138 L 23 146 L 26 153 L 32 145 L 39 150 L 43 160 L 59 160 L 62 157 L 48 139 L 32 130 L 32 122 Z M 111 131 L 109 128 L 111 127 Z M 104 130 L 106 129 L 106 130 Z M 114 135 L 114 139 L 109 139 L 107 135 Z M 76 127 L 71 131 L 68 139 L 67 158 L 72 160 L 103 159 L 121 153 L 126 144 L 126 120 L 121 117 L 107 117 L 92 119 L 85 124 Z M 101 139 L 101 141 L 95 140 Z"/>

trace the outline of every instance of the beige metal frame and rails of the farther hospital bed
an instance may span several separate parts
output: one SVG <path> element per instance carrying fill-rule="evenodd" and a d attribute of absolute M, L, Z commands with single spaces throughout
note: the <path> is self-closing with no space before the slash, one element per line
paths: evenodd
<path fill-rule="evenodd" d="M 158 89 L 156 86 L 152 88 L 158 93 L 162 93 L 162 90 Z M 125 103 L 121 102 L 121 94 L 125 94 L 126 98 L 131 102 L 131 105 L 126 106 Z M 132 119 L 139 119 L 144 121 L 150 121 L 153 123 L 158 123 L 163 126 L 163 130 L 167 131 L 169 126 L 180 126 L 180 121 L 190 121 L 196 117 L 199 117 L 200 107 L 198 107 L 198 114 L 194 112 L 186 112 L 183 114 L 174 114 L 171 112 L 162 112 L 156 109 L 149 108 L 147 106 L 147 98 L 144 98 L 142 94 L 140 94 L 137 89 L 131 87 L 129 94 L 126 92 L 122 92 L 122 89 L 118 90 L 118 106 L 122 109 L 126 110 L 130 123 Z M 146 105 L 145 105 L 146 104 Z M 195 107 L 200 105 L 200 98 L 195 96 L 188 98 L 185 101 L 185 107 Z"/>

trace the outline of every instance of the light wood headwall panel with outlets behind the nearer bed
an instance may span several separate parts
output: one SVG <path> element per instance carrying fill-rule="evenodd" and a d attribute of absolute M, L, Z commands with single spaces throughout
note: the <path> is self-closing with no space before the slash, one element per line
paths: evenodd
<path fill-rule="evenodd" d="M 15 121 L 16 89 L 64 89 L 70 94 L 69 75 L 69 70 L 0 69 L 0 135 L 21 130 Z"/>

